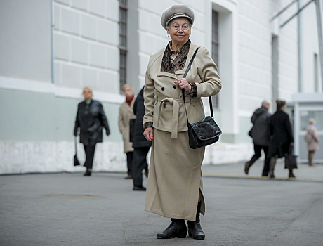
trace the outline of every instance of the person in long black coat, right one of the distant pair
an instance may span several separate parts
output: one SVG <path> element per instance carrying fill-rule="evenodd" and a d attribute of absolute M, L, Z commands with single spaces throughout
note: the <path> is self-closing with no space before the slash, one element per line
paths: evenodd
<path fill-rule="evenodd" d="M 268 160 L 270 160 L 270 178 L 275 178 L 274 169 L 277 158 L 284 157 L 289 153 L 291 145 L 294 146 L 294 136 L 291 130 L 289 115 L 286 110 L 286 102 L 276 100 L 277 111 L 270 118 L 270 145 L 268 150 Z M 286 167 L 285 167 L 286 168 Z M 294 178 L 293 169 L 289 169 L 289 177 Z"/>

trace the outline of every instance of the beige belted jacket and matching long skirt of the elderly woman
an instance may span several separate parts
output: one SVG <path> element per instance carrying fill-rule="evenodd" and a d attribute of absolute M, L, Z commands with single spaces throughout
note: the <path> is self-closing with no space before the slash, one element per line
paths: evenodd
<path fill-rule="evenodd" d="M 145 210 L 190 221 L 195 221 L 199 190 L 203 195 L 201 165 L 204 148 L 192 150 L 188 145 L 182 91 L 173 81 L 183 77 L 196 48 L 196 45 L 190 45 L 185 67 L 175 75 L 160 72 L 164 49 L 152 54 L 144 91 L 143 123 L 153 122 L 154 127 Z M 218 69 L 206 48 L 197 51 L 186 79 L 197 85 L 197 98 L 186 95 L 185 103 L 189 121 L 198 122 L 204 117 L 201 97 L 216 95 L 221 89 Z M 205 212 L 204 196 L 201 212 Z"/>

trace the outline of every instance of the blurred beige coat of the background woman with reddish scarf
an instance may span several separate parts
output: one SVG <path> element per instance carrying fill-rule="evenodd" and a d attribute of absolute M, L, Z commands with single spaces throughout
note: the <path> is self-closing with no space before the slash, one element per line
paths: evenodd
<path fill-rule="evenodd" d="M 122 134 L 122 138 L 124 139 L 124 153 L 133 151 L 132 143 L 129 141 L 129 121 L 130 119 L 136 118 L 136 115 L 133 114 L 133 103 L 136 100 L 133 98 L 131 105 L 124 102 L 120 105 L 119 108 L 119 131 Z"/>

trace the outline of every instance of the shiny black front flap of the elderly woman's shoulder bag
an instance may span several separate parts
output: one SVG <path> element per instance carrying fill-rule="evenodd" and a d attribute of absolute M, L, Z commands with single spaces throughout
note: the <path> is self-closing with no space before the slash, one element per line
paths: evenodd
<path fill-rule="evenodd" d="M 201 121 L 190 124 L 190 126 L 200 140 L 208 140 L 222 134 L 220 127 L 211 116 L 206 116 Z"/>

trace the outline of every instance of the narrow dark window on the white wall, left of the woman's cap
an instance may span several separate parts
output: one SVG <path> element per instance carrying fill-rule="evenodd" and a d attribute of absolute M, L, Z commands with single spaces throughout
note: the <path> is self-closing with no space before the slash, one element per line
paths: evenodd
<path fill-rule="evenodd" d="M 120 90 L 126 84 L 126 53 L 127 53 L 127 0 L 119 0 L 119 49 L 120 49 Z"/>

